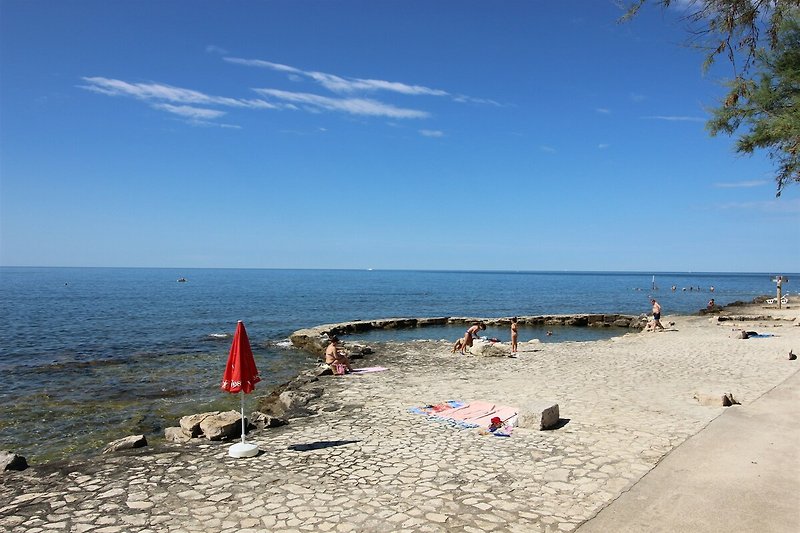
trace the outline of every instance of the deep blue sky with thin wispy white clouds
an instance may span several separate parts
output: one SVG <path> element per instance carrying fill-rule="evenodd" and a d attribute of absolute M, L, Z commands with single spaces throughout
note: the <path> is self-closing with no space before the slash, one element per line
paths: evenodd
<path fill-rule="evenodd" d="M 730 75 L 612 1 L 0 0 L 0 264 L 800 270 Z"/>

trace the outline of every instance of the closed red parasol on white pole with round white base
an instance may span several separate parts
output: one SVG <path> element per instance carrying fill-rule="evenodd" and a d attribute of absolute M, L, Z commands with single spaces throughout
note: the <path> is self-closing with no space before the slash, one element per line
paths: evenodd
<path fill-rule="evenodd" d="M 253 457 L 258 454 L 258 446 L 244 441 L 244 395 L 251 393 L 256 388 L 256 383 L 261 381 L 253 359 L 253 350 L 250 349 L 250 339 L 241 320 L 236 324 L 236 333 L 233 335 L 231 351 L 228 354 L 228 364 L 222 375 L 222 390 L 239 393 L 242 400 L 242 441 L 237 442 L 228 450 L 231 457 Z"/>

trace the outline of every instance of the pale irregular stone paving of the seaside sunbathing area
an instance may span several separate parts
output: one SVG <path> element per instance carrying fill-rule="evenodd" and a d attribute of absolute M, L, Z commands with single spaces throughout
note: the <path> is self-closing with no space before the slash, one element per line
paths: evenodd
<path fill-rule="evenodd" d="M 526 344 L 517 359 L 381 345 L 364 365 L 388 371 L 321 378 L 318 414 L 248 437 L 258 457 L 164 445 L 6 473 L 0 531 L 573 531 L 722 412 L 695 392 L 746 403 L 800 368 L 786 357 L 797 321 L 748 323 L 776 336 L 734 340 L 730 323 L 673 319 L 673 331 Z M 497 438 L 408 411 L 450 399 L 554 400 L 564 420 Z"/>

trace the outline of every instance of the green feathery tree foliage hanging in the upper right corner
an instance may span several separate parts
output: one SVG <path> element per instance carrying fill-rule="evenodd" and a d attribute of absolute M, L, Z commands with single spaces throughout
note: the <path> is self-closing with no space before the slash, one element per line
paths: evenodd
<path fill-rule="evenodd" d="M 662 8 L 673 3 L 650 1 Z M 630 4 L 621 20 L 646 2 Z M 684 18 L 691 40 L 709 50 L 703 69 L 726 54 L 734 71 L 706 129 L 712 136 L 738 134 L 738 152 L 767 150 L 780 196 L 786 185 L 800 183 L 800 0 L 691 0 Z"/>

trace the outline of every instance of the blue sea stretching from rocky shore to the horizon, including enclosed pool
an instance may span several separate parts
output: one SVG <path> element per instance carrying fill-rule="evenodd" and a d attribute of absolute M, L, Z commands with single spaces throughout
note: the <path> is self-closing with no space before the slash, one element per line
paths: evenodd
<path fill-rule="evenodd" d="M 219 388 L 238 320 L 262 377 L 246 397 L 248 412 L 255 396 L 316 364 L 315 354 L 288 341 L 301 328 L 391 317 L 639 315 L 650 311 L 651 297 L 666 315 L 695 314 L 710 298 L 725 305 L 774 295 L 774 276 L 0 267 L 0 450 L 30 464 L 89 457 L 127 435 L 157 441 L 184 415 L 238 409 L 239 397 Z M 520 340 L 622 333 L 551 332 L 521 328 Z M 413 328 L 344 340 L 453 341 L 462 334 L 463 327 Z M 508 340 L 505 330 L 486 335 Z"/>

